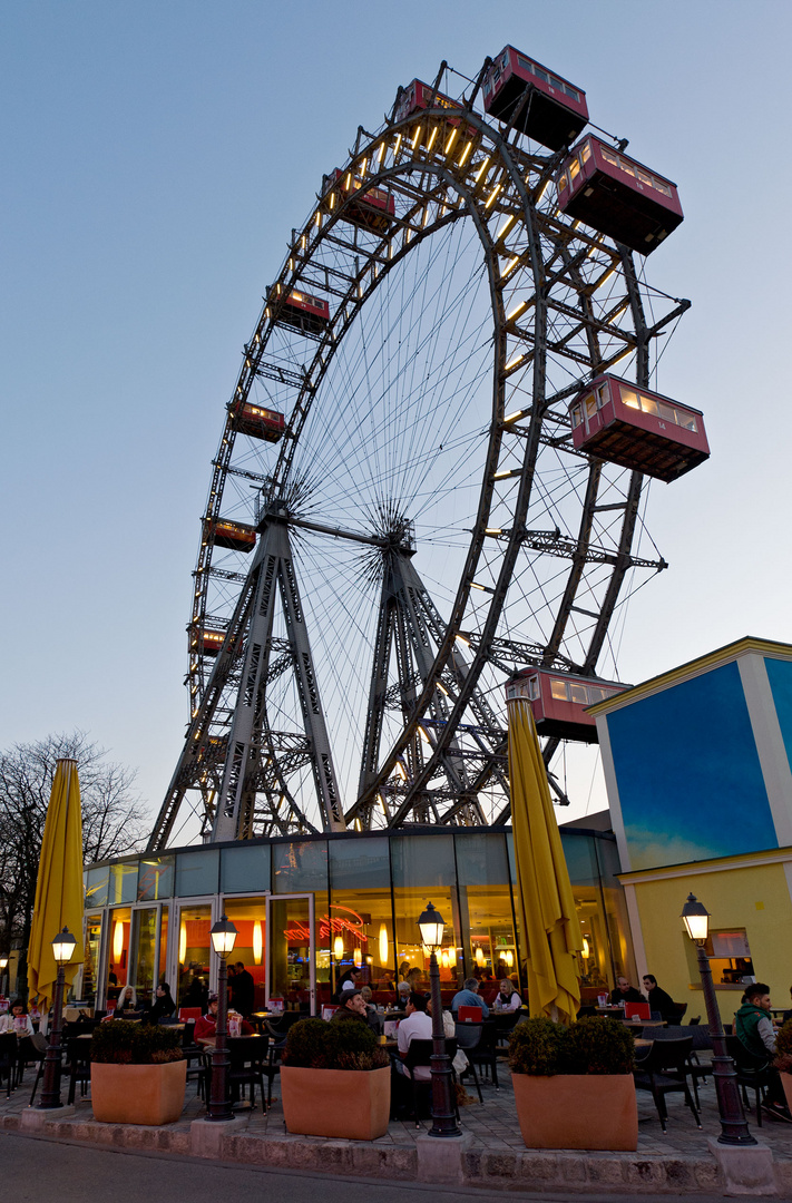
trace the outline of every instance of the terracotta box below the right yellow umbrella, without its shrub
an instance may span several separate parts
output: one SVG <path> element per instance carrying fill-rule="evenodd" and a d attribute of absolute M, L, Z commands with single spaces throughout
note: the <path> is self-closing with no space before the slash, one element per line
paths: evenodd
<path fill-rule="evenodd" d="M 528 1149 L 634 1152 L 638 1103 L 631 1073 L 513 1073 L 520 1132 Z"/>

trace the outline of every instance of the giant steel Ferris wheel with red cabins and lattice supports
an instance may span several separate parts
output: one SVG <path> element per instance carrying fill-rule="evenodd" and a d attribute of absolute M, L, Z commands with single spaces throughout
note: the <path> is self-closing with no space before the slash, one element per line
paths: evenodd
<path fill-rule="evenodd" d="M 504 683 L 602 675 L 628 586 L 666 567 L 644 473 L 697 460 L 650 391 L 688 302 L 633 256 L 681 220 L 675 189 L 625 143 L 571 149 L 586 118 L 507 47 L 400 88 L 329 165 L 212 462 L 150 851 L 189 817 L 213 840 L 508 822 Z"/>

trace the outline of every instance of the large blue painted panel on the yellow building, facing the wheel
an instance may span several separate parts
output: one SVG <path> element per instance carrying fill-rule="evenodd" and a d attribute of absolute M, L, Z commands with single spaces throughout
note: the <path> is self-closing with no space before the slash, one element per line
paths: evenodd
<path fill-rule="evenodd" d="M 792 676 L 785 689 L 792 741 Z M 608 715 L 608 731 L 633 869 L 778 847 L 735 663 Z"/>

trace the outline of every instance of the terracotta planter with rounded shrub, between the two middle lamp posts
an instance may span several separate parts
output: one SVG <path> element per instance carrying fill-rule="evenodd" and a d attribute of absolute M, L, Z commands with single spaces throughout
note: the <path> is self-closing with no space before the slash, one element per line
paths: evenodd
<path fill-rule="evenodd" d="M 280 1095 L 289 1132 L 376 1140 L 388 1131 L 390 1059 L 366 1024 L 301 1019 L 286 1036 Z"/>

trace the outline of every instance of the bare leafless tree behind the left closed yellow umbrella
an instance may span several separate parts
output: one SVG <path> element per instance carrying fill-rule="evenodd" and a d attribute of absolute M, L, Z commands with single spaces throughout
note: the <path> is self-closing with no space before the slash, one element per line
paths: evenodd
<path fill-rule="evenodd" d="M 79 774 L 83 858 L 136 852 L 147 834 L 134 793 L 136 771 L 113 764 L 84 731 L 48 735 L 0 752 L 0 950 L 28 948 L 36 877 L 55 761 L 72 757 Z M 22 966 L 20 966 L 22 968 Z"/>

